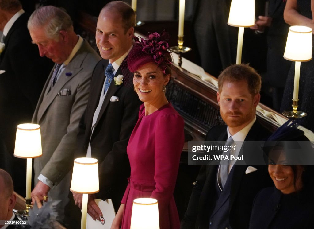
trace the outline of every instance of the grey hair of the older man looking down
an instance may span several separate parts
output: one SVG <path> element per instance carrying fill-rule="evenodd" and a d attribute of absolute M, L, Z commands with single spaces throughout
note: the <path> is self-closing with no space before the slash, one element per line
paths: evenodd
<path fill-rule="evenodd" d="M 73 22 L 63 8 L 44 6 L 36 9 L 27 23 L 28 30 L 43 28 L 48 38 L 59 41 L 61 30 L 73 31 Z"/>

